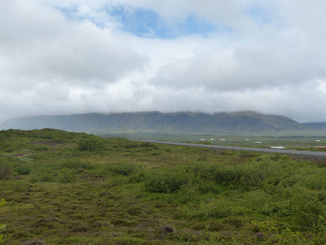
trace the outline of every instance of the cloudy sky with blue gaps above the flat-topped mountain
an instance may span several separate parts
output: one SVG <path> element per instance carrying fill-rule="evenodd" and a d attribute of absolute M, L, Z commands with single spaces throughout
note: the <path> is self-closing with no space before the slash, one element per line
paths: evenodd
<path fill-rule="evenodd" d="M 0 123 L 234 112 L 326 122 L 322 0 L 0 1 Z"/>

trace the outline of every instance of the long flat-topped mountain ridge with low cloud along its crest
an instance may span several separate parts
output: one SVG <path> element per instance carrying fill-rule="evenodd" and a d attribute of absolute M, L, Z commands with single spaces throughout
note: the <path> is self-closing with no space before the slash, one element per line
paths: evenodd
<path fill-rule="evenodd" d="M 73 132 L 153 132 L 187 134 L 250 134 L 305 130 L 306 126 L 284 116 L 252 111 L 236 113 L 112 113 L 31 116 L 10 119 L 1 129 L 55 128 Z"/>

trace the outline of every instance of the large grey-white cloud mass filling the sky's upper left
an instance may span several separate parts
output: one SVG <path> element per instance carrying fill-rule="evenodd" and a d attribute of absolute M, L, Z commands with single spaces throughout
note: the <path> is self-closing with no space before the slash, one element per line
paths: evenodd
<path fill-rule="evenodd" d="M 34 14 L 23 3 L 2 6 L 6 14 L 0 18 L 10 20 L 0 21 L 2 87 L 29 88 L 44 81 L 92 87 L 143 68 L 147 58 L 132 50 L 127 35 L 114 36 L 88 20 L 68 23 L 40 1 L 33 2 L 38 3 Z"/>

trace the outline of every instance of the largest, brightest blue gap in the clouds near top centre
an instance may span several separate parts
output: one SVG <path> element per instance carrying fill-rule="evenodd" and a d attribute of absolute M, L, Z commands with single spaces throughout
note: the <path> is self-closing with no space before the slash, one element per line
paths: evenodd
<path fill-rule="evenodd" d="M 120 22 L 123 31 L 139 37 L 173 39 L 187 35 L 207 36 L 216 31 L 227 30 L 200 20 L 194 14 L 187 15 L 182 21 L 169 22 L 148 9 L 126 10 L 120 6 L 107 10 L 107 13 Z"/>

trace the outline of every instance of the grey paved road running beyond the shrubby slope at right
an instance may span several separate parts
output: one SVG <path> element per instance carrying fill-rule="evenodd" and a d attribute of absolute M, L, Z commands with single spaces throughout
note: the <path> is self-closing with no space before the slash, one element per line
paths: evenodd
<path fill-rule="evenodd" d="M 216 146 L 216 145 L 204 145 L 195 143 L 180 143 L 180 142 L 168 142 L 168 141 L 149 141 L 149 140 L 132 140 L 142 141 L 159 144 L 179 145 L 179 146 L 197 146 L 207 148 L 220 148 L 220 149 L 231 149 L 231 150 L 246 150 L 246 151 L 259 151 L 259 152 L 279 152 L 286 154 L 302 154 L 302 155 L 314 155 L 314 156 L 326 156 L 325 151 L 298 151 L 298 150 L 284 150 L 284 149 L 270 149 L 270 148 L 255 148 L 255 147 L 239 147 L 239 146 Z"/>

